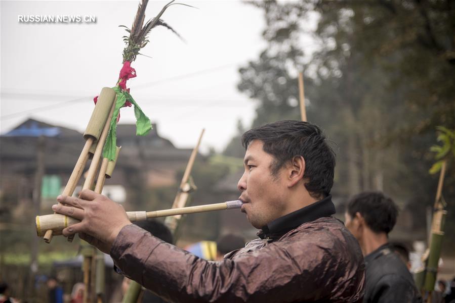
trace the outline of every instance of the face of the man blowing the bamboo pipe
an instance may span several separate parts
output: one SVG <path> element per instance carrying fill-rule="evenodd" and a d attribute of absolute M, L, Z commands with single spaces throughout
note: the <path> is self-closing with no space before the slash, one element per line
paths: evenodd
<path fill-rule="evenodd" d="M 243 166 L 245 171 L 237 184 L 243 201 L 241 211 L 256 228 L 285 215 L 287 185 L 285 169 L 272 175 L 274 157 L 263 149 L 261 140 L 253 140 L 246 149 Z"/>

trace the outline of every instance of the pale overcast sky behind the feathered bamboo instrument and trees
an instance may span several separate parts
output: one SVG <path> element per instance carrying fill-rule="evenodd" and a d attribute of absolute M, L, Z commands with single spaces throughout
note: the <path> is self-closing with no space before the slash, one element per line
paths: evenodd
<path fill-rule="evenodd" d="M 265 47 L 262 12 L 237 1 L 188 1 L 162 16 L 187 41 L 168 29 L 153 29 L 150 43 L 132 64 L 137 77 L 131 94 L 157 123 L 158 133 L 178 147 L 192 147 L 202 128 L 202 151 L 221 151 L 250 125 L 255 103 L 239 93 L 237 69 Z M 150 1 L 146 18 L 167 2 Z M 121 68 L 126 32 L 139 1 L 1 1 L 0 131 L 27 118 L 85 130 L 93 96 L 114 86 Z M 97 22 L 25 23 L 19 15 L 95 16 Z M 133 108 L 120 123 L 134 123 Z M 240 144 L 240 142 L 239 142 Z"/>

